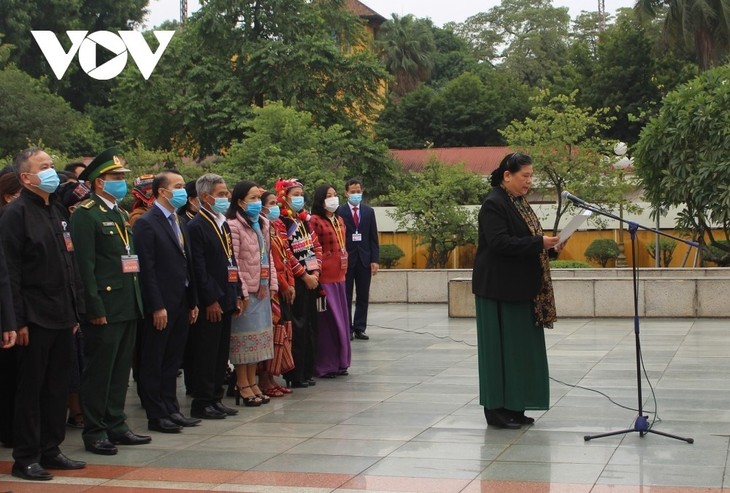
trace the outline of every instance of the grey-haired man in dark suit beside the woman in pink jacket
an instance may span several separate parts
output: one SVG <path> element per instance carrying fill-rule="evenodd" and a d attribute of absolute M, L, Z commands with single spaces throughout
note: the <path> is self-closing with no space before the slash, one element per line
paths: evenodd
<path fill-rule="evenodd" d="M 231 230 L 223 215 L 230 192 L 222 177 L 205 174 L 196 182 L 200 211 L 188 223 L 198 301 L 205 307 L 190 328 L 193 347 L 190 415 L 223 419 L 238 413 L 221 403 L 228 364 L 231 318 L 241 314 L 243 290 Z M 201 310 L 202 311 L 202 310 Z"/>

